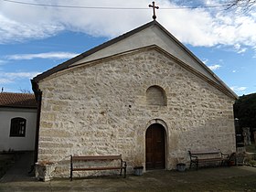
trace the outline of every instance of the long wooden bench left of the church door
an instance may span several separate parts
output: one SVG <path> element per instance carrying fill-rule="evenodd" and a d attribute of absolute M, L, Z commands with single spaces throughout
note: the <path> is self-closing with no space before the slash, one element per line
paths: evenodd
<path fill-rule="evenodd" d="M 75 166 L 74 163 L 87 161 L 87 162 L 93 162 L 93 161 L 115 161 L 120 160 L 120 164 L 118 165 L 100 165 L 100 166 Z M 122 171 L 124 171 L 124 178 L 126 177 L 126 162 L 123 161 L 122 155 L 91 155 L 91 156 L 79 156 L 79 155 L 70 155 L 70 180 L 73 179 L 73 172 L 74 171 L 92 171 L 92 170 L 114 170 L 114 169 L 120 169 L 120 176 L 122 176 Z"/>

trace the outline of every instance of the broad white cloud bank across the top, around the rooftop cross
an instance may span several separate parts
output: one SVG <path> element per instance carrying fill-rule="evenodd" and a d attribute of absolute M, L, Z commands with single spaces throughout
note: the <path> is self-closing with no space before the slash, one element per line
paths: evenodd
<path fill-rule="evenodd" d="M 40 3 L 37 0 L 29 1 Z M 54 5 L 112 6 L 148 8 L 147 0 L 80 1 L 56 0 Z M 223 8 L 165 9 L 179 7 L 169 0 L 159 0 L 157 21 L 183 43 L 192 46 L 212 47 L 225 45 L 246 51 L 256 46 L 256 14 L 226 11 Z M 174 1 L 182 4 L 184 1 Z M 218 5 L 225 1 L 201 0 L 204 5 Z M 44 4 L 53 4 L 44 1 Z M 188 4 L 188 3 L 187 3 Z M 189 3 L 190 4 L 190 3 Z M 161 9 L 162 7 L 162 9 Z M 116 37 L 151 20 L 152 10 L 76 9 L 0 2 L 0 43 L 22 41 L 30 38 L 54 36 L 70 30 L 91 36 Z"/>

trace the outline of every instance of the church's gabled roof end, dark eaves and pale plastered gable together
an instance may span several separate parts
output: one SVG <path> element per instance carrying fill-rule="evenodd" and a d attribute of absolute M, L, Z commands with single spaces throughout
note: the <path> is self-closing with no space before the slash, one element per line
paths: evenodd
<path fill-rule="evenodd" d="M 37 75 L 32 82 L 33 90 L 37 90 L 37 82 L 44 80 L 48 76 L 57 73 L 64 69 L 69 69 L 82 63 L 89 61 L 103 59 L 112 55 L 121 54 L 137 48 L 144 48 L 148 46 L 158 46 L 163 48 L 166 52 L 173 55 L 176 59 L 180 59 L 189 67 L 196 69 L 199 73 L 212 80 L 224 90 L 229 92 L 229 96 L 237 99 L 238 96 L 229 89 L 229 87 L 220 80 L 208 67 L 188 49 L 176 37 L 169 33 L 165 27 L 161 26 L 157 21 L 152 21 L 142 27 L 137 27 L 132 31 L 123 34 L 120 37 L 113 38 L 101 44 L 98 47 L 81 53 L 79 56 L 69 59 L 68 61 L 59 64 L 58 66 L 49 69 L 42 74 Z"/>

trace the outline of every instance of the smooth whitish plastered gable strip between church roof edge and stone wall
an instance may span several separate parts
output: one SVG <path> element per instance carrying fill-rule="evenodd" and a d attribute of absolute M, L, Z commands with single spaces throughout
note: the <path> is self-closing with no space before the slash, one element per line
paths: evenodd
<path fill-rule="evenodd" d="M 207 69 L 207 67 L 199 59 L 197 59 L 187 48 L 185 48 L 180 42 L 178 42 L 175 37 L 167 34 L 157 25 L 146 27 L 144 28 L 144 30 L 134 33 L 132 36 L 125 37 L 122 40 L 117 41 L 116 43 L 106 48 L 102 48 L 94 52 L 86 58 L 78 60 L 71 66 L 75 66 L 96 59 L 110 57 L 112 55 L 120 54 L 129 50 L 144 48 L 152 45 L 163 48 L 166 52 L 174 56 L 176 59 L 179 59 L 193 69 L 196 69 L 198 72 L 208 77 L 208 79 L 213 80 L 219 85 L 222 84 L 219 82 L 219 78 L 216 77 L 215 74 L 209 69 Z"/>

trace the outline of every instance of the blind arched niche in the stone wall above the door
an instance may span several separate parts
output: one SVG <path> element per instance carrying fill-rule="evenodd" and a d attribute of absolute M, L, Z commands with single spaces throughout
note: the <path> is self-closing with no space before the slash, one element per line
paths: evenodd
<path fill-rule="evenodd" d="M 151 86 L 146 91 L 146 103 L 148 105 L 166 106 L 165 90 L 159 86 Z"/>

